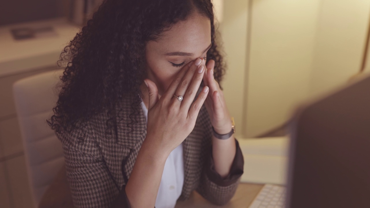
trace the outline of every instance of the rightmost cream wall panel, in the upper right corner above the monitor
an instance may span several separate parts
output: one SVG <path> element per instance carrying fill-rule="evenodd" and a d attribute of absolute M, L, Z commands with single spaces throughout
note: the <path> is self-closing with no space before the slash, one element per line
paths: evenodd
<path fill-rule="evenodd" d="M 361 67 L 370 0 L 322 0 L 309 95 L 346 83 Z"/>

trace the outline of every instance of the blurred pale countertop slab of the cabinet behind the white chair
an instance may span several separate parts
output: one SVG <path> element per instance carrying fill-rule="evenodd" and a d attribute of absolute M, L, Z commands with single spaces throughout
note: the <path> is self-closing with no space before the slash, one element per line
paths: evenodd
<path fill-rule="evenodd" d="M 57 36 L 14 40 L 10 32 L 12 28 L 45 26 L 53 26 Z M 0 27 L 0 77 L 57 67 L 61 51 L 79 30 L 64 17 Z"/>

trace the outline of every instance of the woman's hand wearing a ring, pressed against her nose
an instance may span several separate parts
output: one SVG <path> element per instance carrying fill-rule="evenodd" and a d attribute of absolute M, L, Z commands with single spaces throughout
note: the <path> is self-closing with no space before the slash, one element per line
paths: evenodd
<path fill-rule="evenodd" d="M 201 62 L 202 60 L 197 58 L 182 68 L 160 99 L 155 83 L 149 79 L 144 80 L 149 90 L 145 141 L 149 140 L 152 145 L 168 154 L 194 129 L 199 110 L 207 97 L 209 88 L 205 86 L 193 103 L 206 71 Z M 179 101 L 174 94 L 183 96 L 183 100 Z"/>

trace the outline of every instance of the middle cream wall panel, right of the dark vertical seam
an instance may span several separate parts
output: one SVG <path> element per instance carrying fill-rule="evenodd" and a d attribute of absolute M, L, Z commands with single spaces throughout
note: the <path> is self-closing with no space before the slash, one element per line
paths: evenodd
<path fill-rule="evenodd" d="M 282 125 L 307 97 L 319 0 L 253 0 L 245 136 Z"/>

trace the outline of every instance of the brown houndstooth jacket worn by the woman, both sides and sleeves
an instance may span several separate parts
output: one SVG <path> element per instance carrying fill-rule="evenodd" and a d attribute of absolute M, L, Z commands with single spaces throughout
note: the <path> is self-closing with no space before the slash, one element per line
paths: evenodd
<path fill-rule="evenodd" d="M 139 122 L 132 125 L 132 132 L 126 125 L 131 122 L 131 100 L 126 98 L 122 102 L 122 111 L 116 108 L 123 120 L 110 138 L 104 136 L 108 119 L 105 113 L 94 116 L 79 130 L 56 133 L 63 144 L 74 207 L 130 207 L 125 184 L 147 134 L 143 112 L 139 115 Z M 213 167 L 211 135 L 212 125 L 203 105 L 194 130 L 182 142 L 184 185 L 179 200 L 188 199 L 196 190 L 211 203 L 223 205 L 235 194 L 244 164 L 238 141 L 235 140 L 236 155 L 230 174 L 221 178 Z"/>

